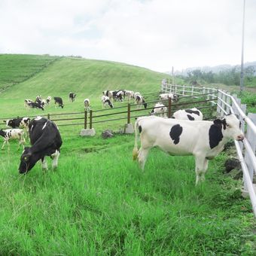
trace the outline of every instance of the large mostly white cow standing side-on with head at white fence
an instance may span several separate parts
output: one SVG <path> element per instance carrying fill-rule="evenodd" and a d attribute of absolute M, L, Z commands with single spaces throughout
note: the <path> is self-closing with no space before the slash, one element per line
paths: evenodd
<path fill-rule="evenodd" d="M 139 117 L 136 128 L 139 128 L 141 148 L 137 147 L 137 129 L 133 160 L 138 158 L 144 169 L 148 152 L 159 147 L 171 155 L 194 155 L 198 182 L 204 180 L 208 160 L 219 154 L 228 139 L 242 141 L 240 122 L 234 114 L 214 121 L 194 121 L 163 119 L 161 117 Z"/>

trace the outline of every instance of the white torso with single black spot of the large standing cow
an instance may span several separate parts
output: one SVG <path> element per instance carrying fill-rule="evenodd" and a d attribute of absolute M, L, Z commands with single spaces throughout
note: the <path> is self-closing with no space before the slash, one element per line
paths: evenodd
<path fill-rule="evenodd" d="M 159 147 L 173 155 L 195 154 L 209 148 L 212 122 L 141 117 L 138 120 L 142 145 Z"/>

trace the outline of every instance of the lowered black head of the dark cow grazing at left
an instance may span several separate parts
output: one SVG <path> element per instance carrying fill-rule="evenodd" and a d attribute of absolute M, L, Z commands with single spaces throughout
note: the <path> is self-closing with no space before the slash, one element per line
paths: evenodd
<path fill-rule="evenodd" d="M 29 147 L 25 147 L 23 154 L 20 157 L 19 172 L 21 174 L 29 172 L 39 159 L 40 157 L 38 154 L 32 154 L 31 149 Z"/>

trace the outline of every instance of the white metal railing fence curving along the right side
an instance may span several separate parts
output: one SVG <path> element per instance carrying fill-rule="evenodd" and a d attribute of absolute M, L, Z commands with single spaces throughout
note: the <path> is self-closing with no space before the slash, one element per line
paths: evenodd
<path fill-rule="evenodd" d="M 215 99 L 218 94 L 217 103 L 212 101 L 212 105 L 216 105 L 218 114 L 222 117 L 230 112 L 236 114 L 241 121 L 241 130 L 245 134 L 242 142 L 235 141 L 237 157 L 242 166 L 244 190 L 248 192 L 251 199 L 252 209 L 256 216 L 256 184 L 253 184 L 253 176 L 256 175 L 256 114 L 248 113 L 246 116 L 246 105 L 241 104 L 241 100 L 236 96 L 231 96 L 224 90 L 206 87 L 194 87 L 186 85 L 172 85 L 163 79 L 161 84 L 162 93 L 177 93 L 178 95 L 190 95 L 197 97 L 202 93 L 209 93 L 208 99 Z M 211 94 L 212 93 L 212 94 Z"/>

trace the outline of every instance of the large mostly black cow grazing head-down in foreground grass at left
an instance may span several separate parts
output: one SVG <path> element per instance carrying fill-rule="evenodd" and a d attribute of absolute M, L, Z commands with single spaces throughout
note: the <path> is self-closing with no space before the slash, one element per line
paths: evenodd
<path fill-rule="evenodd" d="M 25 147 L 20 157 L 20 173 L 29 172 L 38 160 L 42 162 L 42 168 L 47 169 L 46 156 L 53 159 L 52 167 L 58 165 L 59 148 L 62 139 L 55 123 L 44 117 L 36 117 L 29 123 L 29 137 L 32 147 Z"/>

